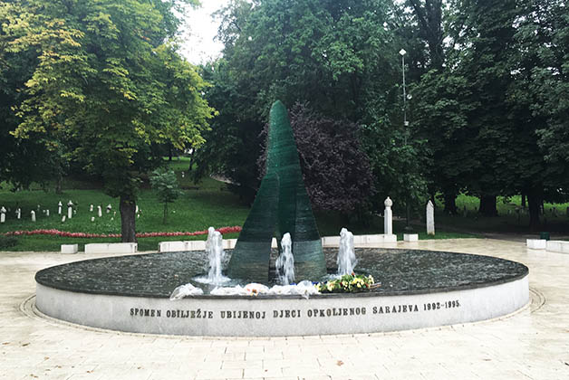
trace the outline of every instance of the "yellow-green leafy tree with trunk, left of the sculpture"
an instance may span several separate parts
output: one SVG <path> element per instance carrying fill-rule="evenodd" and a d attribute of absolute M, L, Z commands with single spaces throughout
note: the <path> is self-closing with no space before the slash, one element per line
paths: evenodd
<path fill-rule="evenodd" d="M 102 176 L 107 194 L 120 197 L 122 241 L 134 242 L 140 177 L 159 165 L 157 145 L 199 146 L 214 113 L 201 97 L 206 82 L 172 43 L 175 2 L 22 6 L 32 16 L 15 23 L 23 33 L 10 49 L 34 49 L 39 63 L 17 108 L 15 136 L 73 138 L 72 157 Z"/>

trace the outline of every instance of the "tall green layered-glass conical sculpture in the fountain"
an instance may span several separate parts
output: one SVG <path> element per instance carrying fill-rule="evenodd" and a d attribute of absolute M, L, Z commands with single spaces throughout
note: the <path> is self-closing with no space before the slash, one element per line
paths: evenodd
<path fill-rule="evenodd" d="M 320 234 L 304 187 L 293 129 L 277 100 L 269 118 L 266 174 L 231 255 L 227 275 L 268 282 L 271 240 L 284 233 L 293 241 L 294 277 L 318 280 L 326 274 Z"/>

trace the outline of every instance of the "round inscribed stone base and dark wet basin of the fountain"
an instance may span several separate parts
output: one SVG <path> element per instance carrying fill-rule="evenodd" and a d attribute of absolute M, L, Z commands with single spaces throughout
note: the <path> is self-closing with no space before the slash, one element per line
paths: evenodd
<path fill-rule="evenodd" d="M 310 299 L 203 295 L 170 301 L 171 290 L 203 271 L 196 261 L 206 260 L 178 252 L 77 261 L 39 271 L 36 307 L 94 328 L 246 337 L 461 324 L 504 316 L 529 301 L 528 270 L 514 261 L 380 249 L 356 249 L 356 255 L 362 271 L 381 282 L 377 290 Z M 330 263 L 334 254 L 328 252 L 326 259 Z"/>

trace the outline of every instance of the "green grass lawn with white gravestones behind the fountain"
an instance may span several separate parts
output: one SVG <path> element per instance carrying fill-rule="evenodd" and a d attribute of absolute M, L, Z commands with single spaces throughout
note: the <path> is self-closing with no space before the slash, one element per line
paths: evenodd
<path fill-rule="evenodd" d="M 211 178 L 205 178 L 199 184 L 194 184 L 189 176 L 181 177 L 181 172 L 188 171 L 189 160 L 185 157 L 174 158 L 169 162 L 178 176 L 178 182 L 184 189 L 183 195 L 174 204 L 169 204 L 168 223 L 162 223 L 163 205 L 158 203 L 155 193 L 143 188 L 140 191 L 138 205 L 140 218 L 137 220 L 138 233 L 155 232 L 194 232 L 207 230 L 209 226 L 226 227 L 243 225 L 249 212 L 247 206 L 240 204 L 236 195 L 227 191 L 227 185 Z M 65 179 L 63 195 L 56 195 L 53 189 L 43 191 L 33 188 L 29 191 L 13 193 L 7 189 L 0 189 L 0 206 L 4 205 L 10 211 L 6 214 L 6 223 L 0 224 L 0 233 L 18 230 L 56 229 L 72 233 L 121 233 L 121 218 L 119 202 L 116 198 L 104 195 L 101 184 L 84 182 L 79 179 Z M 67 213 L 67 202 L 72 200 L 77 214 L 71 220 L 62 223 L 61 215 L 57 214 L 57 204 L 63 203 L 63 214 Z M 37 206 L 40 205 L 38 212 Z M 94 205 L 90 212 L 90 205 Z M 106 213 L 107 204 L 111 204 L 111 213 Z M 97 216 L 97 206 L 101 205 L 103 215 Z M 15 218 L 15 209 L 22 208 L 22 219 Z M 50 216 L 43 214 L 49 209 Z M 36 213 L 36 222 L 32 223 L 30 212 Z M 115 214 L 116 213 L 116 214 Z M 91 221 L 95 217 L 94 222 Z M 346 223 L 338 213 L 315 213 L 319 231 L 323 236 L 337 235 L 342 227 L 347 227 L 354 234 L 382 233 L 383 219 L 374 217 L 371 223 Z M 395 221 L 393 229 L 402 232 L 404 223 Z M 424 227 L 420 229 L 424 231 Z M 237 233 L 224 235 L 225 238 L 236 238 Z M 476 233 L 457 233 L 444 227 L 437 228 L 435 237 L 420 233 L 420 239 L 448 239 L 460 237 L 476 237 Z M 205 240 L 206 235 L 178 236 L 178 237 L 152 237 L 139 239 L 139 251 L 156 251 L 158 242 L 168 240 Z M 402 239 L 402 233 L 399 234 Z M 2 247 L 0 251 L 59 251 L 61 244 L 80 244 L 80 250 L 89 242 L 119 242 L 115 238 L 65 238 L 50 235 L 18 236 L 13 247 Z"/>

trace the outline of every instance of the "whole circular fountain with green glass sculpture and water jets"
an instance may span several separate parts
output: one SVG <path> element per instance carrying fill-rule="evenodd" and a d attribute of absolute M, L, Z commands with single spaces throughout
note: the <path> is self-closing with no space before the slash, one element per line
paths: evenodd
<path fill-rule="evenodd" d="M 344 230 L 339 257 L 335 250 L 323 250 L 280 102 L 271 109 L 265 177 L 225 261 L 221 235 L 213 229 L 209 233 L 207 252 L 109 257 L 39 271 L 36 307 L 53 318 L 128 332 L 299 336 L 473 322 L 512 313 L 529 300 L 528 270 L 514 261 L 452 252 L 354 252 L 353 236 Z M 284 238 L 278 258 L 271 251 L 274 235 Z M 323 280 L 334 266 L 333 272 L 350 273 L 356 256 L 356 271 L 377 282 L 372 290 L 315 295 L 255 295 L 252 290 L 250 295 L 222 296 L 214 289 L 231 285 L 222 265 L 233 281 L 266 284 L 275 262 L 277 277 L 286 284 L 293 278 Z M 200 286 L 204 291 L 196 290 Z M 170 295 L 189 297 L 170 300 Z"/>

